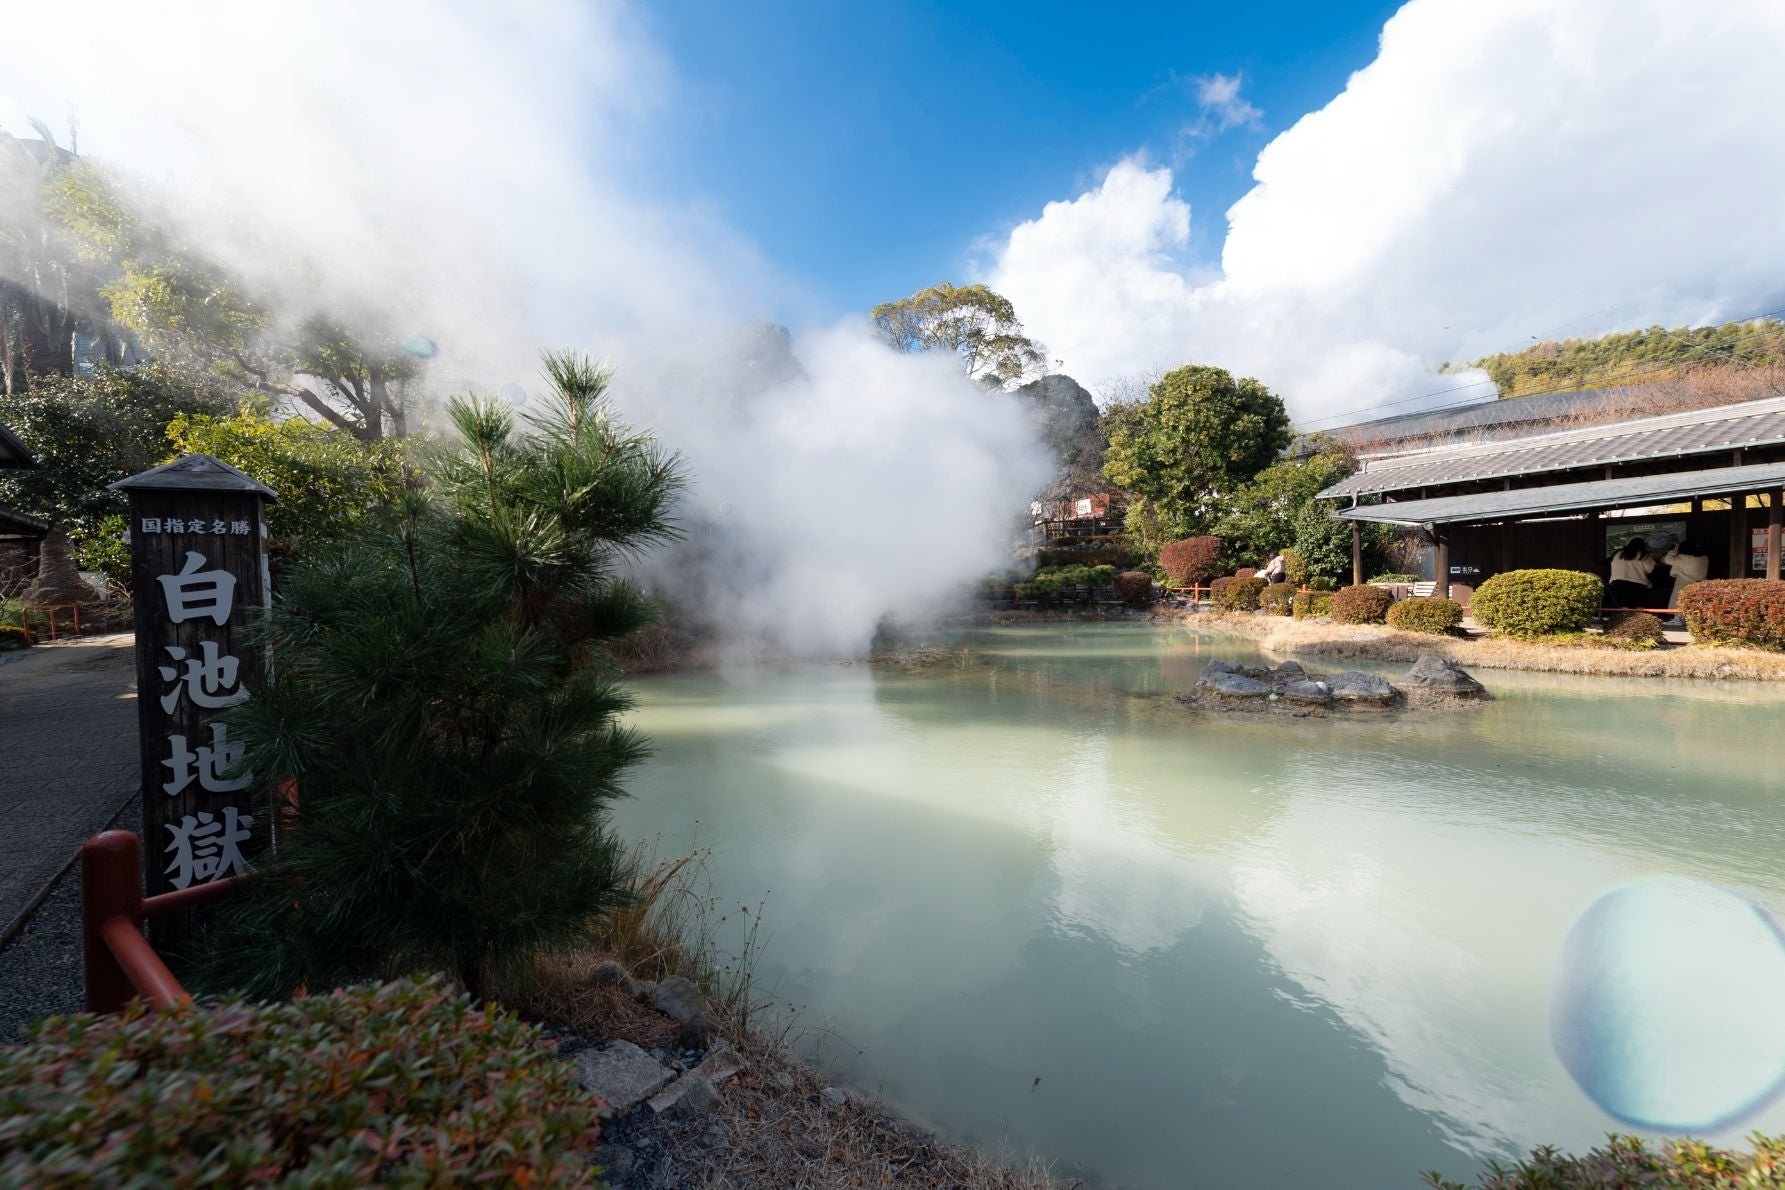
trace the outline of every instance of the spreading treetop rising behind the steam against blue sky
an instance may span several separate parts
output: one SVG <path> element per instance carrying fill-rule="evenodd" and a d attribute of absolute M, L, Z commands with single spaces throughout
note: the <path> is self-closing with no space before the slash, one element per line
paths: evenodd
<path fill-rule="evenodd" d="M 1010 387 L 1046 371 L 1042 346 L 1023 334 L 1016 307 L 985 285 L 942 282 L 898 302 L 882 302 L 869 316 L 875 334 L 896 351 L 948 351 L 969 378 Z"/>

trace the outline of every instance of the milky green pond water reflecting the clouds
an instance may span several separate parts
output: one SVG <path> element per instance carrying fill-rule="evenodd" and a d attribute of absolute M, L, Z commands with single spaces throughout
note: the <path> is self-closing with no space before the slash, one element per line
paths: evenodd
<path fill-rule="evenodd" d="M 960 642 L 639 682 L 618 822 L 766 897 L 759 983 L 839 1078 L 1094 1185 L 1414 1186 L 1630 1131 L 1551 1047 L 1569 926 L 1662 872 L 1785 913 L 1776 687 L 1483 671 L 1471 712 L 1205 719 L 1166 696 L 1250 644 Z M 1785 1106 L 1715 1136 L 1755 1128 Z"/>

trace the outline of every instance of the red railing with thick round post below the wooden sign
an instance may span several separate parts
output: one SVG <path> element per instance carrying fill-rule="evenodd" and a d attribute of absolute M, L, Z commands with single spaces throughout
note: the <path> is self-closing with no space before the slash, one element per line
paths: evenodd
<path fill-rule="evenodd" d="M 102 831 L 80 847 L 80 933 L 87 1012 L 123 1012 L 141 996 L 157 1008 L 191 999 L 143 937 L 157 913 L 221 901 L 245 876 L 143 896 L 143 844 L 134 831 Z"/>

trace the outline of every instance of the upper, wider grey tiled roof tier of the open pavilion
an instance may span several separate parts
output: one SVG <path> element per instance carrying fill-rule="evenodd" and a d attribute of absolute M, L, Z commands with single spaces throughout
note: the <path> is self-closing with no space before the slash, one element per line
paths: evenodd
<path fill-rule="evenodd" d="M 1558 430 L 1501 442 L 1435 446 L 1387 459 L 1366 459 L 1362 471 L 1333 483 L 1321 496 L 1399 492 L 1437 483 L 1498 480 L 1512 475 L 1571 471 L 1574 467 L 1780 442 L 1785 442 L 1785 398 L 1774 396 L 1764 401 L 1637 417 L 1635 421 L 1585 430 Z"/>

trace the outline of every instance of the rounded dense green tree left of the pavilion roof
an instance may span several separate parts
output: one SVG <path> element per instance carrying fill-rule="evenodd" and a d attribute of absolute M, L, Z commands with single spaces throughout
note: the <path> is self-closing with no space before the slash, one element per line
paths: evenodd
<path fill-rule="evenodd" d="M 1225 501 L 1291 437 L 1280 396 L 1198 364 L 1166 373 L 1144 401 L 1103 417 L 1103 478 L 1133 494 L 1128 530 L 1151 548 L 1207 533 Z"/>

